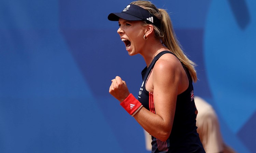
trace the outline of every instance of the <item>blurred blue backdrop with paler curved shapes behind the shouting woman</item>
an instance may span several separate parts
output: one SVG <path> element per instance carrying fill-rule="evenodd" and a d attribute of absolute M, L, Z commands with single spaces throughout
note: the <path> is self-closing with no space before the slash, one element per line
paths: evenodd
<path fill-rule="evenodd" d="M 143 58 L 127 54 L 107 19 L 130 2 L 0 1 L 1 153 L 148 153 L 108 92 L 116 75 L 133 95 L 141 84 Z M 198 64 L 195 95 L 215 108 L 224 141 L 256 152 L 256 1 L 152 2 Z"/>

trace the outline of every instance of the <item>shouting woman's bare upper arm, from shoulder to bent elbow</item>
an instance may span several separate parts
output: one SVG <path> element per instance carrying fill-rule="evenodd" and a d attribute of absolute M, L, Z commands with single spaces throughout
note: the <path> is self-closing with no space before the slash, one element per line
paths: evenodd
<path fill-rule="evenodd" d="M 179 61 L 178 61 L 179 62 Z M 153 69 L 153 93 L 155 112 L 163 120 L 165 130 L 171 132 L 178 87 L 180 82 L 180 62 L 160 60 Z"/>

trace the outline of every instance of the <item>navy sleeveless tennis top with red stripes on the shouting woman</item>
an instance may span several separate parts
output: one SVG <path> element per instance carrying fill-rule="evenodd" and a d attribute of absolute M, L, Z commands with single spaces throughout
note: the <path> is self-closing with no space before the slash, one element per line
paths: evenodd
<path fill-rule="evenodd" d="M 138 100 L 143 107 L 154 114 L 157 112 L 155 112 L 153 93 L 146 90 L 145 84 L 156 61 L 166 53 L 173 54 L 170 51 L 160 52 L 154 57 L 150 66 L 145 67 L 141 72 L 143 82 Z M 177 96 L 172 131 L 169 138 L 166 141 L 161 141 L 152 136 L 152 153 L 205 153 L 197 133 L 193 81 L 188 69 L 184 65 L 183 67 L 187 73 L 189 86 L 186 91 Z"/>

